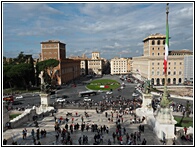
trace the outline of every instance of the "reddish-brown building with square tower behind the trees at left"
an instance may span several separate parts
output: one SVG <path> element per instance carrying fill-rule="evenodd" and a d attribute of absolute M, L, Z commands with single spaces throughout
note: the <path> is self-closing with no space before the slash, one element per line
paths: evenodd
<path fill-rule="evenodd" d="M 41 42 L 41 61 L 47 59 L 59 60 L 54 68 L 53 78 L 57 85 L 62 85 L 80 76 L 80 62 L 66 59 L 66 44 L 57 40 Z"/>

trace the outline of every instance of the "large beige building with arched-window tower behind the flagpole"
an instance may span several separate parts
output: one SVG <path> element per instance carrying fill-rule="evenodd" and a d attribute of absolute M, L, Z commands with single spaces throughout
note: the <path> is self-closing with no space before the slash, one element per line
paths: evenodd
<path fill-rule="evenodd" d="M 143 40 L 144 56 L 133 57 L 132 73 L 136 78 L 142 81 L 151 80 L 154 85 L 164 85 L 165 38 L 165 35 L 156 33 Z M 182 84 L 184 82 L 184 55 L 190 52 L 177 51 L 177 53 L 170 51 L 168 55 L 168 84 Z"/>

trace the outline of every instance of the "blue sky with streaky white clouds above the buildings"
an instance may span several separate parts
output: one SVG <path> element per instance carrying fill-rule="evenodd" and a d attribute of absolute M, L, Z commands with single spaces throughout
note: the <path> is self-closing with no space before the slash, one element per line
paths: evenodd
<path fill-rule="evenodd" d="M 38 57 L 40 42 L 60 40 L 66 54 L 135 57 L 142 40 L 166 32 L 166 3 L 3 3 L 3 56 Z M 193 50 L 193 3 L 169 4 L 169 50 Z"/>

